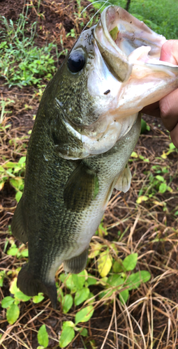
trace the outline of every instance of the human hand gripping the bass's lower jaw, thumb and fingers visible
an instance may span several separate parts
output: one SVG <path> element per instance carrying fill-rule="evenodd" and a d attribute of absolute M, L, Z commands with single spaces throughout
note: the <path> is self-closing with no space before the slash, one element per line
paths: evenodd
<path fill-rule="evenodd" d="M 161 61 L 178 65 L 178 40 L 168 40 L 161 48 Z M 161 117 L 165 128 L 170 131 L 170 138 L 178 148 L 178 89 L 160 101 L 147 105 L 142 109 L 145 114 Z"/>

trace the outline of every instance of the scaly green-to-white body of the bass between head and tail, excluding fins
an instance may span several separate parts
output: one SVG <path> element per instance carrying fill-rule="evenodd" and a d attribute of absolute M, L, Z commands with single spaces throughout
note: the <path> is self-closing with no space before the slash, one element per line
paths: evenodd
<path fill-rule="evenodd" d="M 87 224 L 92 211 L 92 219 L 97 220 L 97 216 L 98 220 L 102 218 L 104 209 L 102 211 L 101 205 L 106 200 L 109 188 L 112 192 L 114 185 L 110 185 L 119 168 L 123 169 L 128 161 L 133 140 L 131 149 L 128 142 L 135 138 L 135 143 L 138 133 L 134 136 L 131 130 L 127 142 L 124 139 L 107 153 L 83 160 L 84 164 L 96 171 L 99 191 L 91 207 L 73 212 L 66 209 L 63 193 L 64 185 L 78 161 L 65 160 L 57 155 L 47 118 L 43 116 L 43 124 L 39 121 L 40 119 L 34 126 L 29 142 L 24 205 L 29 237 L 29 270 L 35 274 L 36 279 L 46 281 L 56 258 L 59 258 L 60 264 L 64 259 L 70 258 L 71 251 L 77 253 L 79 239 L 80 244 L 85 239 L 91 239 L 91 232 L 89 237 L 86 232 L 81 235 L 81 224 L 86 219 L 86 228 L 90 231 Z M 110 196 L 110 192 L 108 195 Z"/>

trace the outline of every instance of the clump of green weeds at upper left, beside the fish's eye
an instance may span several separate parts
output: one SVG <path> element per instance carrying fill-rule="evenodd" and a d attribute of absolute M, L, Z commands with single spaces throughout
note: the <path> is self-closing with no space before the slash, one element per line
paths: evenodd
<path fill-rule="evenodd" d="M 44 47 L 34 44 L 36 22 L 28 25 L 27 14 L 20 14 L 17 22 L 0 17 L 0 76 L 8 86 L 23 87 L 40 84 L 42 78 L 50 80 L 54 75 L 54 59 L 50 52 L 57 45 Z"/>

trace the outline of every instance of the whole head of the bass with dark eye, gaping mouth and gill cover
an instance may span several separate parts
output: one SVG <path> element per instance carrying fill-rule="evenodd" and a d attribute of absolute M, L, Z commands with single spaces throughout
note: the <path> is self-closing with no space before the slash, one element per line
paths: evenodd
<path fill-rule="evenodd" d="M 142 107 L 177 87 L 177 67 L 158 61 L 165 40 L 119 6 L 82 32 L 44 96 L 61 157 L 111 149 Z"/>

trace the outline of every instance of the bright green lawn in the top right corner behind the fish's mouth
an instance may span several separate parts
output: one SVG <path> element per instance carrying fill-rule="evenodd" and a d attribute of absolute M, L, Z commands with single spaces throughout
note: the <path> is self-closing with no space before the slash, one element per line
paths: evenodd
<path fill-rule="evenodd" d="M 91 2 L 94 3 L 94 0 Z M 105 6 L 113 4 L 126 8 L 126 2 L 126 0 L 110 0 Z M 104 1 L 94 3 L 94 7 L 100 8 L 103 3 Z M 131 0 L 129 12 L 168 40 L 178 38 L 178 1 Z"/>

